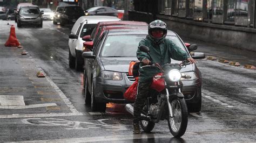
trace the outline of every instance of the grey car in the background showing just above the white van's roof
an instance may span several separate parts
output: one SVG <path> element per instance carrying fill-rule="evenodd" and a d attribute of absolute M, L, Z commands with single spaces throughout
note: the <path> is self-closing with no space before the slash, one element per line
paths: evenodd
<path fill-rule="evenodd" d="M 106 6 L 96 6 L 85 11 L 86 16 L 118 16 L 116 9 Z"/>

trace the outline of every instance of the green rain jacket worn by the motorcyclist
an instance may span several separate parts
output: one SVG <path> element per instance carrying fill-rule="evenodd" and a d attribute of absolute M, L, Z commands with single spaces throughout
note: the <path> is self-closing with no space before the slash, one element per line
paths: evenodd
<path fill-rule="evenodd" d="M 148 59 L 153 62 L 159 63 L 163 66 L 165 63 L 171 63 L 171 58 L 178 61 L 183 61 L 189 58 L 190 56 L 179 48 L 176 44 L 174 44 L 169 39 L 161 39 L 158 44 L 147 35 L 145 39 L 139 42 L 139 46 L 145 45 L 150 49 L 150 56 L 147 53 L 137 50 L 137 58 L 142 61 L 144 59 Z M 143 63 L 140 63 L 139 67 L 145 66 Z M 159 73 L 160 70 L 158 68 L 147 68 L 142 69 L 139 68 L 139 82 L 151 81 L 152 77 Z"/>

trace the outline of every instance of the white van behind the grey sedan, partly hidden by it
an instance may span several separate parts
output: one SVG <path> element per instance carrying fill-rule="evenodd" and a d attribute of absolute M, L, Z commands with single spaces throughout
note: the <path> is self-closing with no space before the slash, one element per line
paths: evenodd
<path fill-rule="evenodd" d="M 120 21 L 114 16 L 82 16 L 77 19 L 69 35 L 69 67 L 82 70 L 84 65 L 83 42 L 85 35 L 90 35 L 98 22 Z"/>

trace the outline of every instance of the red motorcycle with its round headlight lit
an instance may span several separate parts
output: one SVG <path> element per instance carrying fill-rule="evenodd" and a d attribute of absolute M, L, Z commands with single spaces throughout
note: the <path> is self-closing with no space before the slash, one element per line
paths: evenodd
<path fill-rule="evenodd" d="M 140 46 L 140 51 L 150 56 L 149 47 Z M 167 119 L 169 130 L 174 137 L 181 137 L 187 128 L 187 106 L 181 93 L 183 84 L 181 78 L 191 78 L 181 74 L 180 69 L 189 65 L 186 60 L 178 63 L 167 63 L 162 67 L 158 63 L 143 66 L 144 70 L 157 68 L 160 73 L 153 77 L 149 96 L 143 105 L 140 125 L 145 132 L 153 130 L 160 120 Z M 126 104 L 126 111 L 133 115 L 133 105 Z"/>

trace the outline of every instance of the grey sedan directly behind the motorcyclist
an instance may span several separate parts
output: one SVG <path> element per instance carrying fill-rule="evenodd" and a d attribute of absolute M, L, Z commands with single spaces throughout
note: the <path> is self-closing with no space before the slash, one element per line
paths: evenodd
<path fill-rule="evenodd" d="M 147 29 L 106 30 L 92 52 L 82 54 L 85 60 L 85 101 L 91 100 L 93 111 L 105 111 L 106 103 L 126 103 L 124 92 L 135 81 L 128 75 L 129 63 L 138 60 L 136 51 Z M 179 36 L 168 31 L 166 38 L 190 52 Z M 86 42 L 90 45 L 91 41 Z M 86 44 L 85 44 L 86 46 Z M 196 56 L 195 56 L 196 55 Z M 194 59 L 204 58 L 204 53 L 194 52 Z M 180 62 L 172 60 L 172 62 Z M 201 109 L 201 73 L 196 65 L 187 65 L 181 72 L 190 75 L 184 79 L 183 92 L 190 108 Z"/>

